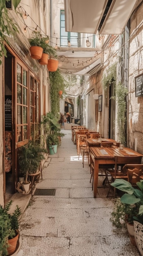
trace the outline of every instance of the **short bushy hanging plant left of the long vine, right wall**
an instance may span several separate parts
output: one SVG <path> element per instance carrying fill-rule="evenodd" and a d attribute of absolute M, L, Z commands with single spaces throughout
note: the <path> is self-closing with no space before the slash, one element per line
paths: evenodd
<path fill-rule="evenodd" d="M 108 69 L 108 75 L 106 76 L 105 74 L 103 74 L 103 79 L 101 81 L 103 90 L 106 91 L 108 86 L 111 83 L 116 84 L 116 76 L 117 76 L 116 67 L 117 67 L 116 64 L 111 65 L 111 67 L 109 67 Z"/>

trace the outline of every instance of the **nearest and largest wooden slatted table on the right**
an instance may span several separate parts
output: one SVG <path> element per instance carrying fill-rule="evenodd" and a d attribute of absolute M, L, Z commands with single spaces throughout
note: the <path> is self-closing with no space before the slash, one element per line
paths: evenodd
<path fill-rule="evenodd" d="M 90 163 L 94 163 L 94 177 L 93 177 L 93 195 L 96 198 L 97 195 L 97 184 L 98 184 L 98 172 L 99 164 L 115 164 L 114 156 L 143 156 L 140 153 L 130 149 L 124 148 L 100 148 L 90 147 Z"/>

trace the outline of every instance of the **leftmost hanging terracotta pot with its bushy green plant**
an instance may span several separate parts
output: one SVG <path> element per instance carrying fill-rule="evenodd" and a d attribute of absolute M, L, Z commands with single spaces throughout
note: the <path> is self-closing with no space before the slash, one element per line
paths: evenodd
<path fill-rule="evenodd" d="M 41 46 L 41 36 L 37 31 L 33 31 L 33 36 L 29 39 L 31 58 L 39 60 L 42 57 L 43 48 Z"/>

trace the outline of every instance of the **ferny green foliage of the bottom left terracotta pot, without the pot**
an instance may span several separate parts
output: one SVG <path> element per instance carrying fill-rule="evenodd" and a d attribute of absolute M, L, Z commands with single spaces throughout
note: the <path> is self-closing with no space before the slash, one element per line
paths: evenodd
<path fill-rule="evenodd" d="M 0 255 L 2 256 L 7 256 L 8 238 L 15 237 L 16 231 L 19 229 L 21 210 L 17 205 L 15 211 L 10 214 L 11 204 L 12 200 L 4 208 L 0 205 Z"/>

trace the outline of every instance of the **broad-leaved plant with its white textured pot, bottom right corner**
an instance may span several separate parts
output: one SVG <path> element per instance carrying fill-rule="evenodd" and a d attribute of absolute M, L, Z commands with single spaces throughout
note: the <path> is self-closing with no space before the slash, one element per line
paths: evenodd
<path fill-rule="evenodd" d="M 130 223 L 134 222 L 136 245 L 143 255 L 143 180 L 136 182 L 136 185 L 139 189 L 134 188 L 130 182 L 123 179 L 116 179 L 111 183 L 111 186 L 125 192 L 121 197 L 121 202 L 132 207 L 132 213 L 127 216 L 127 220 Z"/>

